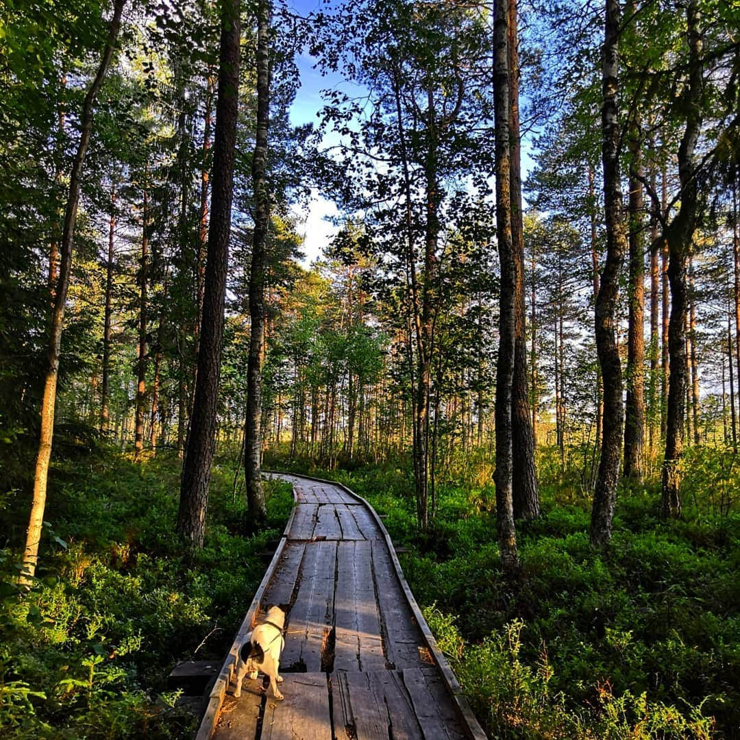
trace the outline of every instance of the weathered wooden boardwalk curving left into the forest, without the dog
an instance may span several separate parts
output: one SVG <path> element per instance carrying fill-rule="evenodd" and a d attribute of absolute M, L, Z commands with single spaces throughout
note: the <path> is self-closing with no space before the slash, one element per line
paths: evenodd
<path fill-rule="evenodd" d="M 406 585 L 388 534 L 340 485 L 283 475 L 296 505 L 210 695 L 198 740 L 485 739 Z M 229 686 L 244 636 L 289 605 L 283 702 Z M 228 687 L 228 692 L 226 689 Z"/>

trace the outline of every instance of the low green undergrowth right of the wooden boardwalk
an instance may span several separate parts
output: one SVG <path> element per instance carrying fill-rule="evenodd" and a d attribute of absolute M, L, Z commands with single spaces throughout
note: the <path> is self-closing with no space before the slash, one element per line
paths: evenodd
<path fill-rule="evenodd" d="M 497 739 L 740 738 L 740 514 L 721 451 L 692 451 L 684 518 L 657 485 L 621 491 L 606 554 L 591 497 L 541 481 L 542 517 L 517 528 L 522 575 L 503 578 L 494 488 L 474 471 L 437 486 L 431 531 L 404 465 L 306 472 L 369 499 L 486 733 Z M 556 471 L 545 451 L 540 471 Z M 295 469 L 295 468 L 294 468 Z M 721 487 L 720 487 L 721 486 Z"/>

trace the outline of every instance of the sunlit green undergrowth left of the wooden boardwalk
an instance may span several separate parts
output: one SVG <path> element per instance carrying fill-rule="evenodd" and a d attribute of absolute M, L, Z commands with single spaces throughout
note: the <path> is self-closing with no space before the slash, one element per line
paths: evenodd
<path fill-rule="evenodd" d="M 269 529 L 240 535 L 233 471 L 214 471 L 203 551 L 173 534 L 179 461 L 103 467 L 55 493 L 38 578 L 14 587 L 0 551 L 0 734 L 18 738 L 174 738 L 194 718 L 166 690 L 178 659 L 220 659 L 263 576 L 258 553 L 282 531 L 289 486 L 266 484 Z M 14 502 L 14 505 L 19 502 Z"/>

